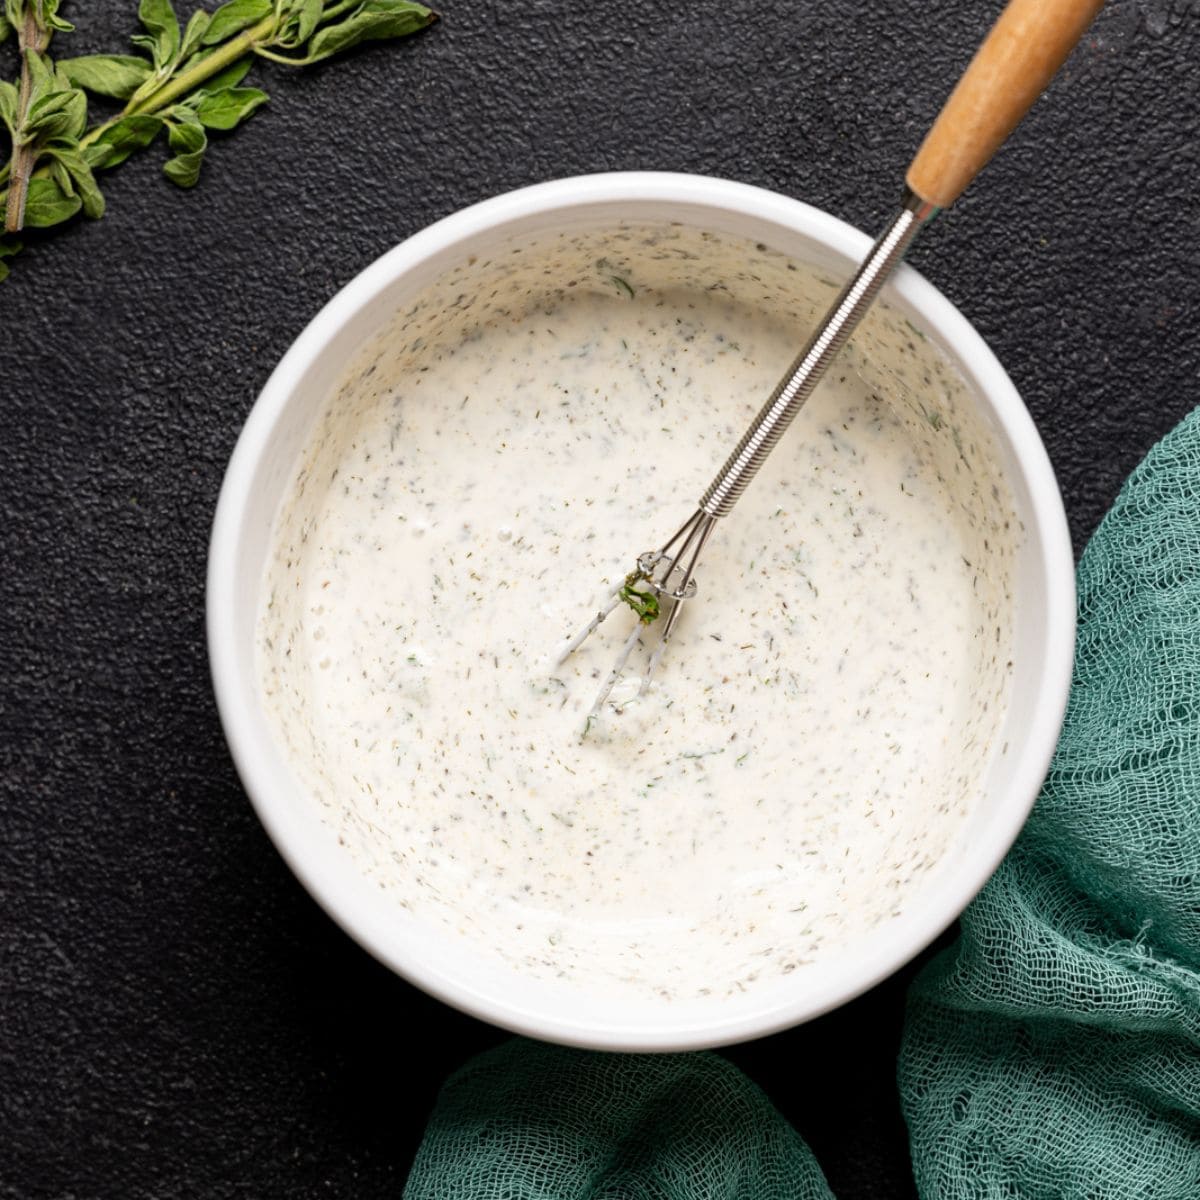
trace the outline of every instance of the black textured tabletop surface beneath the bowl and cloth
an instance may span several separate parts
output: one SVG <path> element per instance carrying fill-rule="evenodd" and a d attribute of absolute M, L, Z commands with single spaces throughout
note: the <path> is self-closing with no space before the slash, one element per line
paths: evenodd
<path fill-rule="evenodd" d="M 134 0 L 76 4 L 74 53 Z M 181 193 L 0 284 L 0 1195 L 398 1196 L 443 1078 L 500 1032 L 377 965 L 245 799 L 204 650 L 238 430 L 330 295 L 428 222 L 554 176 L 701 172 L 875 230 L 998 0 L 448 0 L 302 74 Z M 1076 551 L 1200 400 L 1200 5 L 1112 0 L 914 264 L 1008 367 Z M 6 65 L 7 70 L 7 65 Z M 910 1196 L 902 972 L 728 1051 L 841 1198 Z"/>

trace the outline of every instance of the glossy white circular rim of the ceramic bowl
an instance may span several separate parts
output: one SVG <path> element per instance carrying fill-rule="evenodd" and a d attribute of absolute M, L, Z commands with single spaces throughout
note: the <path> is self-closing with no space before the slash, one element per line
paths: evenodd
<path fill-rule="evenodd" d="M 242 674 L 235 644 L 234 613 L 239 594 L 239 546 L 242 516 L 251 484 L 266 452 L 271 433 L 289 397 L 317 364 L 337 334 L 401 276 L 464 239 L 488 232 L 502 235 L 505 226 L 551 212 L 613 203 L 664 203 L 710 209 L 738 218 L 782 226 L 821 242 L 827 250 L 860 259 L 871 239 L 839 218 L 764 188 L 708 175 L 668 172 L 612 172 L 535 184 L 473 204 L 442 218 L 388 251 L 350 280 L 305 326 L 280 360 L 256 400 L 230 456 L 214 517 L 206 578 L 209 661 L 217 709 L 238 774 L 268 835 L 293 872 L 359 944 L 392 971 L 434 997 L 517 1033 L 568 1045 L 606 1050 L 688 1050 L 726 1045 L 762 1037 L 820 1016 L 853 1000 L 893 974 L 948 928 L 984 886 L 1020 833 L 1057 743 L 1066 712 L 1074 662 L 1074 558 L 1058 485 L 1033 419 L 1000 361 L 970 322 L 931 283 L 902 264 L 889 289 L 929 322 L 940 340 L 962 361 L 970 361 L 991 415 L 1003 430 L 1020 464 L 1030 496 L 1030 521 L 1042 548 L 1040 569 L 1046 581 L 1043 622 L 1046 656 L 1042 664 L 1030 734 L 1019 748 L 1018 767 L 1007 788 L 1008 802 L 989 826 L 986 845 L 955 862 L 953 882 L 936 911 L 914 907 L 902 928 L 894 929 L 886 953 L 872 959 L 851 982 L 798 992 L 758 1008 L 722 1016 L 713 1006 L 710 1021 L 667 1027 L 580 1020 L 570 1013 L 530 1010 L 503 995 L 485 992 L 472 980 L 454 977 L 396 940 L 383 936 L 379 920 L 364 910 L 356 896 L 342 888 L 328 859 L 316 859 L 307 839 L 289 814 L 280 781 L 268 769 L 248 730 L 257 694 L 239 686 Z M 330 848 L 334 847 L 330 841 Z M 382 906 L 378 906 L 382 907 Z M 892 926 L 889 926 L 892 929 Z M 835 980 L 836 983 L 836 980 Z"/>

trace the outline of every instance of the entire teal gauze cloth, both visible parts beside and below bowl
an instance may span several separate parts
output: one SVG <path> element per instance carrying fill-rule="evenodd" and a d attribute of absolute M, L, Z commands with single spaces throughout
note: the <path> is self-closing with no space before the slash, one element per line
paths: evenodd
<path fill-rule="evenodd" d="M 959 942 L 910 990 L 899 1087 L 923 1200 L 1200 1200 L 1200 410 L 1084 554 L 1050 774 Z M 830 1195 L 719 1055 L 524 1039 L 446 1082 L 404 1189 Z"/>

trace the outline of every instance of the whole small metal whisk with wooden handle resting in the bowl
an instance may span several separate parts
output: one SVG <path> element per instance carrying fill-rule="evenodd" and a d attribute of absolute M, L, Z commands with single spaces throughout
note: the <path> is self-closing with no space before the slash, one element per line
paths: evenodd
<path fill-rule="evenodd" d="M 632 571 L 571 638 L 562 662 L 622 604 L 637 617 L 588 714 L 600 714 L 643 628 L 666 617 L 642 674 L 649 686 L 684 602 L 697 592 L 696 568 L 716 522 L 733 511 L 767 456 L 850 340 L 922 226 L 953 204 L 1037 100 L 1084 35 L 1104 0 L 1010 0 L 950 94 L 905 178 L 900 211 L 871 247 L 829 312 L 726 458 L 696 511 L 660 550 L 640 554 Z"/>

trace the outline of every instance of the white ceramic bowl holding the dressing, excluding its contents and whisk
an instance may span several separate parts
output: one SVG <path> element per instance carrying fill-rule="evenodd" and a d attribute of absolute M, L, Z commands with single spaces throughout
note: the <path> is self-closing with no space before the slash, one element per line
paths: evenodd
<path fill-rule="evenodd" d="M 870 239 L 816 209 L 742 184 L 630 173 L 523 188 L 439 221 L 384 254 L 296 338 L 263 389 L 229 463 L 212 530 L 209 652 L 226 736 L 268 833 L 312 895 L 366 949 L 406 979 L 468 1013 L 572 1045 L 682 1050 L 758 1037 L 809 1020 L 883 979 L 941 932 L 1016 838 L 1054 750 L 1070 683 L 1074 570 L 1062 500 L 1033 422 L 1001 365 L 932 286 L 902 266 L 888 299 L 940 346 L 967 380 L 994 432 L 1026 536 L 1015 569 L 1013 691 L 985 794 L 953 860 L 905 914 L 803 973 L 794 988 L 720 1004 L 664 1008 L 559 992 L 458 946 L 442 929 L 397 920 L 335 844 L 293 779 L 265 716 L 254 670 L 254 622 L 271 523 L 314 414 L 354 352 L 404 300 L 515 234 L 677 221 L 763 241 L 848 274 Z"/>

